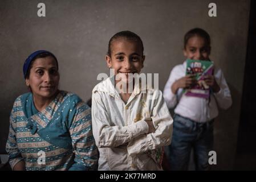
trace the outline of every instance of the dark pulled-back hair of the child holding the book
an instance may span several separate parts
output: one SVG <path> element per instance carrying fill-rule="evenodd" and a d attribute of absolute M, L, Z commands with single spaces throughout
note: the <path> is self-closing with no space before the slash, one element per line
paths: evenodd
<path fill-rule="evenodd" d="M 188 32 L 186 32 L 184 36 L 184 49 L 186 48 L 186 44 L 188 43 L 188 40 L 193 36 L 200 36 L 201 38 L 204 38 L 205 43 L 208 46 L 210 46 L 210 35 L 208 34 L 208 32 L 206 32 L 202 28 L 193 28 L 192 30 L 189 30 Z"/>

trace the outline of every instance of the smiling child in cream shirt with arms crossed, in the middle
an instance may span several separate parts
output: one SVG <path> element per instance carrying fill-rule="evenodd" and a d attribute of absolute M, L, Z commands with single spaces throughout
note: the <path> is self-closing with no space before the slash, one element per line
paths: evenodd
<path fill-rule="evenodd" d="M 115 76 L 92 91 L 99 170 L 162 169 L 162 146 L 170 144 L 173 121 L 162 93 L 144 90 L 141 81 L 132 78 L 143 68 L 143 49 L 140 37 L 130 31 L 118 32 L 109 40 L 105 59 Z M 123 86 L 117 86 L 120 83 Z"/>

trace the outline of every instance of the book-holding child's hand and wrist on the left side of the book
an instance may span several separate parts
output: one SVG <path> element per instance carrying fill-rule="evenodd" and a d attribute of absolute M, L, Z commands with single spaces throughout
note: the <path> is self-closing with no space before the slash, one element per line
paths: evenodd
<path fill-rule="evenodd" d="M 197 83 L 197 80 L 196 78 L 194 78 L 194 75 L 186 75 L 185 77 L 182 77 L 177 81 L 175 81 L 172 84 L 171 89 L 172 89 L 172 92 L 176 94 L 179 88 L 190 88 L 192 85 L 195 85 L 196 83 Z"/>

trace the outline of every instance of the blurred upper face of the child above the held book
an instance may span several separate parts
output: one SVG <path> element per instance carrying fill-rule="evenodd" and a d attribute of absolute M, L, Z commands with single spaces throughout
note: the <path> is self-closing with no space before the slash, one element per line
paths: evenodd
<path fill-rule="evenodd" d="M 209 60 L 210 45 L 201 36 L 193 36 L 186 43 L 183 53 L 187 59 Z"/>

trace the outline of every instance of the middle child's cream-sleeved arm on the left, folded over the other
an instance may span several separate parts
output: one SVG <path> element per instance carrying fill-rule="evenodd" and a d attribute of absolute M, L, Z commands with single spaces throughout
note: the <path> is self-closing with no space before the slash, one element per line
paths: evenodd
<path fill-rule="evenodd" d="M 99 93 L 92 95 L 92 131 L 97 147 L 117 147 L 128 143 L 139 135 L 149 133 L 146 121 L 138 121 L 128 126 L 110 126 L 110 118 Z"/>

